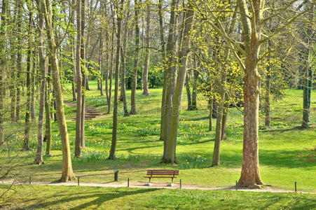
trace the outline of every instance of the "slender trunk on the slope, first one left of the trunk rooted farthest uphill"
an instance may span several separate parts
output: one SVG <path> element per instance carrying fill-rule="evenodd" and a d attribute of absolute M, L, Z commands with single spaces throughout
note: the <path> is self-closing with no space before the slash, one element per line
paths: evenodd
<path fill-rule="evenodd" d="M 142 1 L 135 0 L 135 55 L 134 55 L 134 70 L 132 72 L 132 93 L 131 93 L 131 108 L 130 114 L 136 115 L 136 89 L 137 89 L 137 69 L 138 69 L 138 59 L 139 59 L 139 8 Z"/>

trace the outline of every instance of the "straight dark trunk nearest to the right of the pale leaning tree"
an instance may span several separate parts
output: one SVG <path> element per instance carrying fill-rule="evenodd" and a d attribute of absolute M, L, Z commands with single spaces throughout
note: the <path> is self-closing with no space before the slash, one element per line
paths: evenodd
<path fill-rule="evenodd" d="M 81 156 L 81 113 L 82 113 L 82 80 L 81 76 L 81 0 L 77 2 L 77 41 L 76 41 L 76 78 L 77 78 L 77 111 L 75 157 Z"/>

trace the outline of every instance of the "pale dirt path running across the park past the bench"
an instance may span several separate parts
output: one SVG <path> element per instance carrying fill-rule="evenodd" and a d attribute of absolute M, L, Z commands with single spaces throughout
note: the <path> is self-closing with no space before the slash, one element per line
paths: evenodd
<path fill-rule="evenodd" d="M 11 185 L 13 181 L 2 181 L 2 184 Z M 15 182 L 14 184 L 18 185 L 29 185 L 27 182 Z M 151 183 L 151 186 L 146 186 L 147 183 L 144 182 L 130 182 L 130 188 L 158 188 L 158 189 L 178 189 L 180 188 L 179 183 L 174 183 L 172 186 L 167 186 L 168 183 Z M 60 182 L 52 182 L 52 183 L 40 183 L 34 182 L 32 185 L 39 185 L 39 186 L 78 186 L 76 182 L 69 182 L 69 183 L 60 183 Z M 127 187 L 128 183 L 80 183 L 80 186 L 90 186 L 90 187 L 102 187 L 102 188 L 123 188 Z M 235 186 L 231 187 L 224 187 L 224 188 L 200 188 L 194 186 L 193 184 L 182 184 L 182 189 L 188 190 L 236 190 Z M 251 189 L 251 188 L 238 188 L 238 191 L 248 191 L 248 192 L 269 192 L 269 193 L 295 193 L 294 190 L 282 190 L 276 189 L 271 186 L 266 186 L 265 188 L 261 189 Z M 308 193 L 308 194 L 316 194 L 314 192 L 303 192 L 297 191 L 297 193 Z"/>

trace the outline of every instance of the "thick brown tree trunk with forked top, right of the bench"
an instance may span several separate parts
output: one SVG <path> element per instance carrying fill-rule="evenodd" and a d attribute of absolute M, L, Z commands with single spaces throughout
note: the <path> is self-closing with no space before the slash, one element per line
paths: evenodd
<path fill-rule="evenodd" d="M 245 40 L 244 139 L 242 172 L 238 186 L 259 188 L 263 184 L 259 171 L 259 85 L 258 72 L 261 19 L 264 1 L 253 0 L 253 18 L 249 20 L 247 3 L 238 0 Z"/>

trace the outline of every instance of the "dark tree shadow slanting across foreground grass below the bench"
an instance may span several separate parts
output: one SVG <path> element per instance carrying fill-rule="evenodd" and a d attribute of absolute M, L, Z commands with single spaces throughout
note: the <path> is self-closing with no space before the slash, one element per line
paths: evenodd
<path fill-rule="evenodd" d="M 56 193 L 52 197 L 54 197 L 53 201 L 49 202 L 36 202 L 36 204 L 32 204 L 29 206 L 25 206 L 26 209 L 38 209 L 38 208 L 45 208 L 45 207 L 53 207 L 56 204 L 62 205 L 63 207 L 69 207 L 69 202 L 76 202 L 78 203 L 77 206 L 71 207 L 69 209 L 85 209 L 85 208 L 98 208 L 102 206 L 104 202 L 109 200 L 118 199 L 120 197 L 125 197 L 128 195 L 137 195 L 142 193 L 149 193 L 160 189 L 141 189 L 141 190 L 131 190 L 131 191 L 124 191 L 121 189 L 114 189 L 111 193 L 74 193 L 74 194 L 67 194 L 67 195 L 60 195 L 60 193 Z M 99 191 L 99 190 L 98 190 Z M 139 195 L 142 196 L 142 195 Z M 85 200 L 89 200 L 85 202 Z M 92 207 L 93 206 L 93 207 Z"/>

